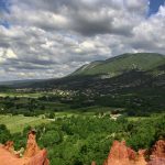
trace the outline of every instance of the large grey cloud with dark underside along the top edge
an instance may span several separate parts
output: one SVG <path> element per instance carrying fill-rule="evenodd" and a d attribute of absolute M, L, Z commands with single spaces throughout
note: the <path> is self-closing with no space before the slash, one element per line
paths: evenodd
<path fill-rule="evenodd" d="M 130 10 L 129 14 L 139 14 L 145 11 L 145 0 L 141 3 L 132 3 L 130 0 L 127 3 L 119 0 L 28 0 L 20 3 L 26 10 L 24 14 L 28 18 L 19 15 L 20 18 L 14 16 L 11 21 L 24 22 L 23 24 L 35 25 L 45 31 L 70 30 L 82 35 L 128 35 L 134 24 L 130 24 L 132 20 L 127 15 L 127 10 Z M 16 7 L 13 11 L 20 12 Z M 128 22 L 117 22 L 117 19 L 122 20 L 123 16 L 128 18 Z"/>

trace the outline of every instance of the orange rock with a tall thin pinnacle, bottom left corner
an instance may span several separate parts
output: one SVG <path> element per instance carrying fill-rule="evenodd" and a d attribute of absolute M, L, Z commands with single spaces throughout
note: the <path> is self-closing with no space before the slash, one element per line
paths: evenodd
<path fill-rule="evenodd" d="M 9 141 L 0 145 L 0 164 L 1 165 L 48 165 L 46 150 L 41 150 L 35 141 L 35 131 L 30 131 L 25 152 L 20 157 L 19 152 L 13 148 L 13 142 Z"/>

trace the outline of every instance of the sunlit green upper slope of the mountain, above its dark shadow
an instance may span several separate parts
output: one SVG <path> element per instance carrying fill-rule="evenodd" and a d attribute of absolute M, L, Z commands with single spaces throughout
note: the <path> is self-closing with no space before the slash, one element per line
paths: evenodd
<path fill-rule="evenodd" d="M 123 74 L 131 69 L 151 70 L 165 64 L 165 56 L 154 53 L 136 53 L 136 54 L 123 54 L 109 58 L 107 61 L 92 62 L 88 65 L 84 65 L 72 76 L 85 76 L 85 75 L 109 75 L 110 77 Z"/>

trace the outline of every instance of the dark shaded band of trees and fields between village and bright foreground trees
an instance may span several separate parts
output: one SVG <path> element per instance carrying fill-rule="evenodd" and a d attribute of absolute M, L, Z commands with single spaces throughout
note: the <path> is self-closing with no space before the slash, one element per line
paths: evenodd
<path fill-rule="evenodd" d="M 45 114 L 46 118 L 53 119 L 55 112 L 62 111 L 100 112 L 122 109 L 120 113 L 130 117 L 150 117 L 152 113 L 164 112 L 165 108 L 165 92 L 160 88 L 153 88 L 153 91 L 136 88 L 105 95 L 89 91 L 77 91 L 73 96 L 48 92 L 40 95 L 37 91 L 25 96 L 24 92 L 15 92 L 14 96 L 12 94 L 0 97 L 0 114 Z M 23 97 L 20 97 L 21 94 Z"/>

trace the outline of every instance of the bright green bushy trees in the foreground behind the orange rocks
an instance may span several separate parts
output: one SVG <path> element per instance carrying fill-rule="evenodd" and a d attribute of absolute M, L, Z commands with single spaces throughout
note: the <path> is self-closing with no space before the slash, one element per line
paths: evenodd
<path fill-rule="evenodd" d="M 90 165 L 95 160 L 101 165 L 114 140 L 125 140 L 134 150 L 148 148 L 160 138 L 165 138 L 165 117 L 117 121 L 108 116 L 70 117 L 36 127 L 37 142 L 48 151 L 52 165 Z M 13 140 L 15 148 L 25 147 L 26 133 L 9 134 L 1 125 L 0 142 Z"/>

